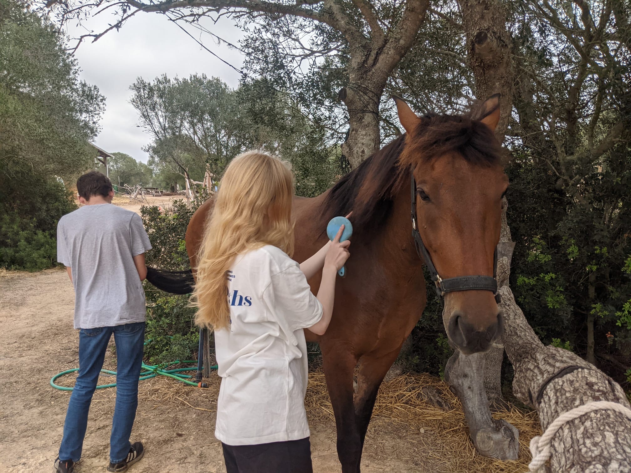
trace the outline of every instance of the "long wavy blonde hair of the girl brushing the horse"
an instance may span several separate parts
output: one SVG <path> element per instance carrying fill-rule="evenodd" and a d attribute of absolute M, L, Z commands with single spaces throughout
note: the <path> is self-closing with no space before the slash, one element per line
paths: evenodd
<path fill-rule="evenodd" d="M 199 252 L 195 322 L 228 327 L 228 270 L 237 255 L 264 245 L 293 254 L 293 175 L 286 163 L 249 151 L 228 165 Z"/>

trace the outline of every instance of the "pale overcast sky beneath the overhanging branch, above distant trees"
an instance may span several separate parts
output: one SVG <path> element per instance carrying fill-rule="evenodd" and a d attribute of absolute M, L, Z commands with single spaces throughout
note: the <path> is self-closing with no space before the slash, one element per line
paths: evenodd
<path fill-rule="evenodd" d="M 101 32 L 112 18 L 93 18 L 85 26 Z M 242 33 L 228 20 L 217 25 L 211 22 L 204 26 L 220 37 L 236 44 Z M 199 38 L 199 32 L 189 27 Z M 85 28 L 69 26 L 68 33 L 76 37 L 85 33 Z M 204 45 L 233 66 L 240 68 L 242 54 L 225 45 L 217 45 L 209 35 L 202 38 Z M 201 47 L 177 25 L 156 13 L 137 13 L 128 20 L 119 32 L 112 30 L 97 42 L 84 42 L 76 52 L 81 78 L 97 85 L 105 95 L 105 114 L 101 120 L 101 132 L 95 144 L 109 153 L 122 151 L 136 160 L 147 161 L 141 149 L 148 144 L 150 136 L 138 124 L 136 110 L 129 103 L 129 86 L 138 77 L 153 80 L 161 74 L 187 77 L 192 73 L 217 76 L 229 86 L 239 84 L 240 74 Z"/>

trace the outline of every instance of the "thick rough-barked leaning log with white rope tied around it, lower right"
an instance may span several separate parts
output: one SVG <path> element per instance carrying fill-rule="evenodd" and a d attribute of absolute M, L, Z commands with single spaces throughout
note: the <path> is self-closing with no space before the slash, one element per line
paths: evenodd
<path fill-rule="evenodd" d="M 504 345 L 515 368 L 513 392 L 539 412 L 541 428 L 592 401 L 630 407 L 620 385 L 574 353 L 543 346 L 507 286 L 500 288 Z M 631 472 L 631 420 L 615 411 L 592 411 L 568 421 L 551 440 L 555 472 Z"/>

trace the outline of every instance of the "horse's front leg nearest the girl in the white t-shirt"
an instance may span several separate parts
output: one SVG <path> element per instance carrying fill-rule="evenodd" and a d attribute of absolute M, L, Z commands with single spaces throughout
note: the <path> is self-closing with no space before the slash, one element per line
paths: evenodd
<path fill-rule="evenodd" d="M 342 473 L 358 473 L 362 440 L 353 406 L 353 371 L 357 358 L 350 350 L 334 344 L 322 344 L 324 377 L 331 397 L 338 433 L 338 458 Z"/>

